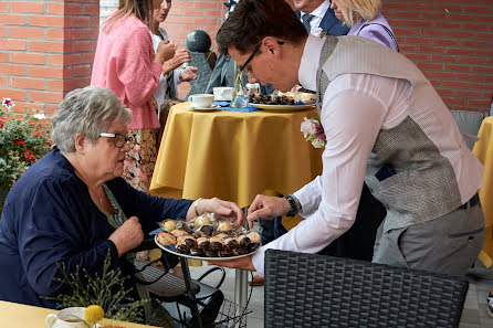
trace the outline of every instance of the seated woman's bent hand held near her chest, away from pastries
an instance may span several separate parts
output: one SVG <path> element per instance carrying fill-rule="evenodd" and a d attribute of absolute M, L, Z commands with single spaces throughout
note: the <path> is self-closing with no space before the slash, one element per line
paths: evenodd
<path fill-rule="evenodd" d="M 144 232 L 137 216 L 132 216 L 108 237 L 118 250 L 118 256 L 134 250 L 144 241 Z"/>

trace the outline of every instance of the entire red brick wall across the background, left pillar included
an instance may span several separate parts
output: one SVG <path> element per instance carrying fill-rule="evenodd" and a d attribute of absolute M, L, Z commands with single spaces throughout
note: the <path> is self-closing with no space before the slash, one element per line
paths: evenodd
<path fill-rule="evenodd" d="M 213 39 L 225 12 L 222 3 L 174 0 L 164 27 L 181 46 L 196 29 Z M 97 0 L 1 1 L 0 97 L 51 115 L 66 92 L 88 85 L 98 4 Z M 418 64 L 451 109 L 490 108 L 492 0 L 387 0 L 382 12 L 401 52 Z M 181 96 L 186 86 L 180 87 Z"/>

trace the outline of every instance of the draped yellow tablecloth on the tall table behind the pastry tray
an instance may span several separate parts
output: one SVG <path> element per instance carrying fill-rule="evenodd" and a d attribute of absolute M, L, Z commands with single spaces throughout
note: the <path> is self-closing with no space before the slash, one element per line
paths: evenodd
<path fill-rule="evenodd" d="M 258 193 L 289 194 L 322 172 L 322 150 L 305 141 L 303 117 L 289 113 L 198 112 L 175 105 L 168 116 L 150 193 L 218 197 L 249 205 Z"/>

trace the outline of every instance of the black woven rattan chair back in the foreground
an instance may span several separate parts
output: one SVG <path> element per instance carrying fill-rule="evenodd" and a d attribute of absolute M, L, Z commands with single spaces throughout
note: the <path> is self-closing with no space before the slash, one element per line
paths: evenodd
<path fill-rule="evenodd" d="M 454 276 L 269 250 L 264 327 L 459 327 L 468 288 Z"/>

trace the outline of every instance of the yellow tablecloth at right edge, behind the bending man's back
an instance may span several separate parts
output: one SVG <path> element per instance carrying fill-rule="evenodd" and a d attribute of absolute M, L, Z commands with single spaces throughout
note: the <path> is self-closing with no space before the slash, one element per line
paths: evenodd
<path fill-rule="evenodd" d="M 481 207 L 483 208 L 484 225 L 486 236 L 483 250 L 479 258 L 485 266 L 490 267 L 493 262 L 493 116 L 486 117 L 481 124 L 478 136 L 480 140 L 475 142 L 472 150 L 479 160 L 484 165 L 483 187 L 480 189 Z"/>

